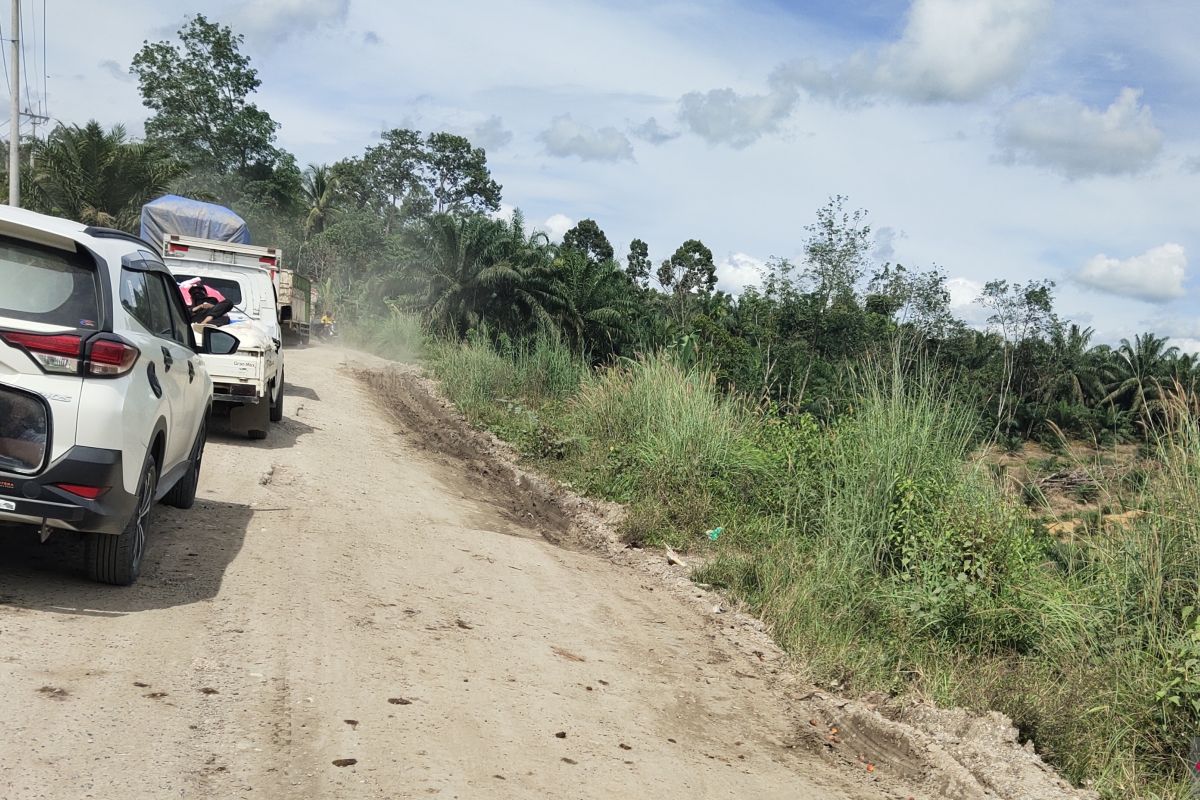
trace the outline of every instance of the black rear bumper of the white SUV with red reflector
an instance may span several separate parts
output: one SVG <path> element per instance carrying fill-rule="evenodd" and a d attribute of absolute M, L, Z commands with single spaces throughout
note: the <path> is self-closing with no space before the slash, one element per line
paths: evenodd
<path fill-rule="evenodd" d="M 107 486 L 108 491 L 88 500 L 55 483 Z M 0 522 L 119 534 L 136 505 L 137 495 L 125 491 L 119 450 L 77 445 L 36 477 L 0 471 Z"/>

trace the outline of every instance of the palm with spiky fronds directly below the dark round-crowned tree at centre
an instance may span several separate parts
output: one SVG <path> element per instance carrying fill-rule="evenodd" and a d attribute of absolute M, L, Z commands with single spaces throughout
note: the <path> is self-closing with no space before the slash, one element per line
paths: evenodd
<path fill-rule="evenodd" d="M 557 309 L 566 338 L 577 353 L 604 357 L 629 339 L 634 291 L 611 259 L 594 260 L 578 251 L 559 251 L 554 272 L 562 287 Z"/>

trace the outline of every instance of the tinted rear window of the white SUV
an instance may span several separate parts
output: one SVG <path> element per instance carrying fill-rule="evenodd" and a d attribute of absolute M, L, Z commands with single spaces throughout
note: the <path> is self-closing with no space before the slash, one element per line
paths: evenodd
<path fill-rule="evenodd" d="M 96 269 L 74 253 L 0 237 L 0 317 L 97 327 Z"/>

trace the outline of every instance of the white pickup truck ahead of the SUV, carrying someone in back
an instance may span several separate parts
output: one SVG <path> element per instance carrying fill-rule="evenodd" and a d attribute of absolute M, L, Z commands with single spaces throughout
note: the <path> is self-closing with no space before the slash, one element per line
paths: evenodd
<path fill-rule="evenodd" d="M 176 281 L 200 278 L 233 302 L 229 333 L 241 343 L 232 355 L 205 355 L 212 401 L 230 405 L 230 427 L 264 439 L 283 419 L 283 332 L 275 278 L 278 251 L 168 234 L 162 257 Z"/>

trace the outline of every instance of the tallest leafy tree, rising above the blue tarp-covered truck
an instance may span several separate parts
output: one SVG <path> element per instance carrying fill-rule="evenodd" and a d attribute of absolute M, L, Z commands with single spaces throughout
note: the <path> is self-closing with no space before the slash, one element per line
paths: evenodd
<path fill-rule="evenodd" d="M 154 112 L 145 125 L 190 164 L 217 172 L 271 167 L 278 124 L 247 98 L 259 86 L 242 37 L 196 14 L 179 29 L 179 44 L 144 42 L 130 72 L 142 102 Z"/>

